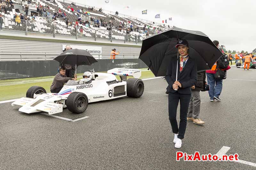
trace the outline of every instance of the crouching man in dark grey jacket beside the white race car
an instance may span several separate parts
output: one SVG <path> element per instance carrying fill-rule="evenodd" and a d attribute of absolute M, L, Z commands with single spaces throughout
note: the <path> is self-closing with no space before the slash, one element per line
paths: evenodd
<path fill-rule="evenodd" d="M 52 85 L 50 87 L 51 93 L 58 93 L 62 89 L 63 85 L 68 82 L 68 80 L 76 80 L 75 78 L 69 78 L 66 76 L 65 67 L 61 66 L 59 69 L 59 73 L 55 75 L 53 78 Z"/>

